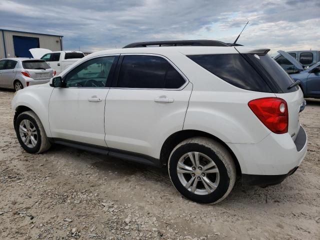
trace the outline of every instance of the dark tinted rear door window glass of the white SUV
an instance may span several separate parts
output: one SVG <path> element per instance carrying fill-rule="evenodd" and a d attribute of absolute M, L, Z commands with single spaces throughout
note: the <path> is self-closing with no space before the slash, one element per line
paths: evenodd
<path fill-rule="evenodd" d="M 179 88 L 184 79 L 164 58 L 128 55 L 123 57 L 117 87 Z"/>

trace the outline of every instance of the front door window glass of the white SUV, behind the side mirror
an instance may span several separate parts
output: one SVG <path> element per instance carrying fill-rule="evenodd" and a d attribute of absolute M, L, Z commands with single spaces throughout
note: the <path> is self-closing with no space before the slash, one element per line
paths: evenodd
<path fill-rule="evenodd" d="M 115 56 L 93 58 L 65 76 L 67 87 L 105 87 Z"/>

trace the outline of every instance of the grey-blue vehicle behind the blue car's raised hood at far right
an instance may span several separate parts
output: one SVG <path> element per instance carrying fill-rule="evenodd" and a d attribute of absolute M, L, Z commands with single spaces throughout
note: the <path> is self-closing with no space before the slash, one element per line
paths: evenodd
<path fill-rule="evenodd" d="M 320 51 L 309 50 L 309 51 L 287 51 L 287 53 L 298 60 L 303 67 L 310 66 L 320 61 Z M 287 72 L 294 73 L 298 69 L 281 54 L 276 55 L 273 58 L 279 65 Z"/>

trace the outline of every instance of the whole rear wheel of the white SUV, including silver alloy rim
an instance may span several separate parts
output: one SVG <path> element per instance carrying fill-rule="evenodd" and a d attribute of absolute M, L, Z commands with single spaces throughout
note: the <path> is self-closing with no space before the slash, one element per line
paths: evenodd
<path fill-rule="evenodd" d="M 197 167 L 192 169 L 192 165 Z M 199 203 L 223 200 L 232 190 L 236 178 L 231 154 L 219 142 L 207 137 L 188 138 L 174 147 L 168 159 L 168 172 L 174 187 L 184 197 Z M 188 186 L 190 181 L 193 183 Z"/>

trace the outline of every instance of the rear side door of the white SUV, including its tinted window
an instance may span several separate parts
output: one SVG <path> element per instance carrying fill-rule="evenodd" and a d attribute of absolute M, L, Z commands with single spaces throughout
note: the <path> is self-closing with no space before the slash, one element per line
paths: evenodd
<path fill-rule="evenodd" d="M 106 98 L 106 143 L 158 158 L 165 138 L 182 130 L 192 85 L 163 56 L 125 54 L 119 62 Z"/>

